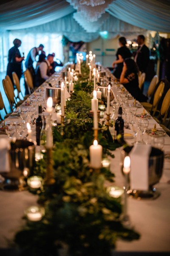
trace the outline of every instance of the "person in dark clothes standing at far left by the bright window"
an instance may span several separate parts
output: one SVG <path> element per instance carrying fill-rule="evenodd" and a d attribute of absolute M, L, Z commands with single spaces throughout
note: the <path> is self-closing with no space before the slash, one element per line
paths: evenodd
<path fill-rule="evenodd" d="M 8 51 L 8 65 L 6 74 L 11 78 L 12 83 L 14 84 L 12 78 L 12 72 L 15 72 L 18 76 L 18 79 L 21 79 L 23 73 L 23 64 L 22 61 L 24 57 L 21 57 L 19 47 L 21 45 L 21 40 L 15 38 L 13 41 L 14 46 Z"/>

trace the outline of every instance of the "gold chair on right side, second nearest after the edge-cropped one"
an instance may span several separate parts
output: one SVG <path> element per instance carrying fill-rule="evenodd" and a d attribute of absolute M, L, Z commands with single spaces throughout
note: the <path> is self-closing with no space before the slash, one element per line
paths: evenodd
<path fill-rule="evenodd" d="M 142 106 L 150 113 L 152 113 L 152 115 L 154 116 L 159 104 L 159 101 L 161 99 L 161 96 L 164 92 L 164 82 L 160 82 L 158 88 L 156 89 L 156 92 L 154 94 L 153 97 L 153 104 L 149 103 L 149 102 L 141 102 Z"/>

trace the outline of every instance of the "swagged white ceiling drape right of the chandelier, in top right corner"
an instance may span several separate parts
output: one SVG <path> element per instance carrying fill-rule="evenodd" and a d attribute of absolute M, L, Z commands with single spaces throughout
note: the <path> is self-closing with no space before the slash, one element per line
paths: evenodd
<path fill-rule="evenodd" d="M 134 26 L 170 32 L 170 0 L 116 0 L 107 11 Z"/>

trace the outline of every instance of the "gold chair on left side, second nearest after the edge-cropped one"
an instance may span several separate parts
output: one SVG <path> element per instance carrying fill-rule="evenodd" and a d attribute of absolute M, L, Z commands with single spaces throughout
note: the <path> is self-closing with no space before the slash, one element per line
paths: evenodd
<path fill-rule="evenodd" d="M 17 106 L 20 106 L 23 103 L 23 100 L 15 102 L 14 87 L 11 87 L 7 79 L 3 79 L 3 89 L 8 98 L 11 111 L 13 112 L 14 108 L 17 108 Z"/>

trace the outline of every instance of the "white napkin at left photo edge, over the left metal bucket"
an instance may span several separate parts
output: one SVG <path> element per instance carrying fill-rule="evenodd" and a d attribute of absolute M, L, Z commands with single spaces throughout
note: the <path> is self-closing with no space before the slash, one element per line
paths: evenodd
<path fill-rule="evenodd" d="M 0 172 L 10 172 L 9 152 L 10 143 L 8 139 L 0 139 Z"/>

